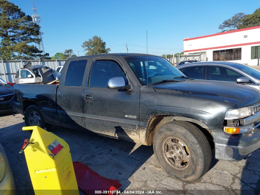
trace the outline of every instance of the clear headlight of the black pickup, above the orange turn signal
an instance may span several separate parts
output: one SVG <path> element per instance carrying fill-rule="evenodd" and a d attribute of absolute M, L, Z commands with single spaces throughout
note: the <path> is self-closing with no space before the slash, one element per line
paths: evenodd
<path fill-rule="evenodd" d="M 252 115 L 253 113 L 254 110 L 251 106 L 238 109 L 230 109 L 226 111 L 225 120 L 242 119 Z"/>

